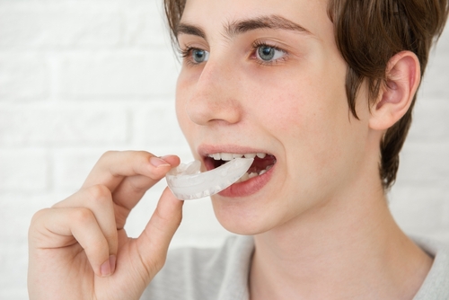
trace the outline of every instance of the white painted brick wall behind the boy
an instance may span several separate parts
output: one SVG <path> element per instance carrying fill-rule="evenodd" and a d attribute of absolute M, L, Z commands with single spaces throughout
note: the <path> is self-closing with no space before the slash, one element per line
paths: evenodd
<path fill-rule="evenodd" d="M 173 113 L 179 66 L 162 0 L 0 0 L 0 299 L 26 299 L 27 230 L 110 149 L 191 156 Z M 427 69 L 390 195 L 413 234 L 449 243 L 449 31 Z M 128 221 L 136 236 L 164 182 Z M 227 234 L 207 199 L 184 207 L 172 246 Z"/>

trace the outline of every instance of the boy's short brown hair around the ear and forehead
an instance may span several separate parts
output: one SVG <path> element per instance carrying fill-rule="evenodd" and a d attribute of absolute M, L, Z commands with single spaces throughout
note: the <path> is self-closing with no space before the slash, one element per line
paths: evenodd
<path fill-rule="evenodd" d="M 386 66 L 395 54 L 415 53 L 421 77 L 429 50 L 445 27 L 449 0 L 329 0 L 328 14 L 334 23 L 335 39 L 348 64 L 346 91 L 348 105 L 357 118 L 356 98 L 361 84 L 368 86 L 368 101 L 376 100 L 386 84 Z M 164 0 L 173 43 L 186 0 Z M 399 153 L 409 132 L 413 97 L 407 113 L 389 128 L 381 141 L 380 176 L 383 188 L 396 179 Z"/>

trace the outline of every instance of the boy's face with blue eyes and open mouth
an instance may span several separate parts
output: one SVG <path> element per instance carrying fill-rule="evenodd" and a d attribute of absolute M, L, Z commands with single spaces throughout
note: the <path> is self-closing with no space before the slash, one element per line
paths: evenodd
<path fill-rule="evenodd" d="M 257 171 L 276 157 L 268 172 L 212 197 L 232 232 L 299 219 L 361 179 L 368 110 L 357 102 L 360 120 L 348 110 L 347 66 L 326 8 L 325 0 L 187 1 L 176 109 L 193 154 L 207 169 L 208 154 L 269 154 Z"/>

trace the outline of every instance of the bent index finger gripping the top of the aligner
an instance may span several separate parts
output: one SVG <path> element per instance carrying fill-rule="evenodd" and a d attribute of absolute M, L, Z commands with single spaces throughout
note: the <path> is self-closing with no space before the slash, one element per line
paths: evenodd
<path fill-rule="evenodd" d="M 159 158 L 145 151 L 108 151 L 95 163 L 83 188 L 100 184 L 113 193 L 124 178 L 136 175 L 147 177 L 150 188 L 179 163 L 180 158 L 175 155 Z"/>

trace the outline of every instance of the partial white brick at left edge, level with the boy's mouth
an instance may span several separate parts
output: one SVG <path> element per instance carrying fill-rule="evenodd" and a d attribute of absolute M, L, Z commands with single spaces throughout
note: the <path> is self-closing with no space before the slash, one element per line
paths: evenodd
<path fill-rule="evenodd" d="M 48 189 L 48 155 L 45 150 L 0 150 L 0 191 Z"/>

